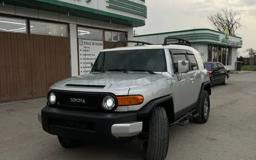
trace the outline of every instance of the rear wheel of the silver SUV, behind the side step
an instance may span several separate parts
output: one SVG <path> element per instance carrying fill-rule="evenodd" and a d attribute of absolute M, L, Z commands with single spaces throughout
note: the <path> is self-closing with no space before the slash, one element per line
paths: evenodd
<path fill-rule="evenodd" d="M 196 111 L 199 113 L 194 121 L 197 123 L 205 123 L 208 121 L 210 114 L 210 96 L 207 91 L 203 90 L 202 98 L 199 100 Z"/>

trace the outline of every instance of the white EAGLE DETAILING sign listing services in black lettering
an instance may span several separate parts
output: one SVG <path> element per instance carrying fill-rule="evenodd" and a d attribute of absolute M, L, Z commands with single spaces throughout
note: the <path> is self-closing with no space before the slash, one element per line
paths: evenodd
<path fill-rule="evenodd" d="M 103 41 L 78 39 L 79 42 L 79 74 L 88 74 L 93 67 L 100 51 L 103 49 Z"/>

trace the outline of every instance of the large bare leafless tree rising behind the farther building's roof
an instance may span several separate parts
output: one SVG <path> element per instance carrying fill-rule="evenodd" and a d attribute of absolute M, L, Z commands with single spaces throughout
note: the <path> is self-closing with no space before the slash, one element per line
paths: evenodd
<path fill-rule="evenodd" d="M 240 23 L 241 15 L 238 11 L 232 11 L 232 8 L 222 8 L 221 12 L 207 16 L 208 21 L 219 32 L 228 29 L 230 35 L 237 35 L 237 29 L 246 28 Z"/>

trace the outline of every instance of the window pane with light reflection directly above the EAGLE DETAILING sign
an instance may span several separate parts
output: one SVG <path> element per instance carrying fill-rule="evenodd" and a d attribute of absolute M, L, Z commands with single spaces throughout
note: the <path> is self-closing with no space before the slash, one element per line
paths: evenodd
<path fill-rule="evenodd" d="M 103 40 L 103 31 L 97 29 L 77 27 L 77 37 L 84 39 Z"/>

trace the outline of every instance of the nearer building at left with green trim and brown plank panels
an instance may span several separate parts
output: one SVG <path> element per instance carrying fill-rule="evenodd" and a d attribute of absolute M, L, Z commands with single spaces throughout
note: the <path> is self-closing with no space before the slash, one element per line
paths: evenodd
<path fill-rule="evenodd" d="M 88 73 L 100 50 L 132 40 L 147 15 L 145 0 L 1 3 L 0 102 L 45 96 L 56 81 Z"/>

